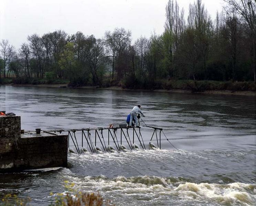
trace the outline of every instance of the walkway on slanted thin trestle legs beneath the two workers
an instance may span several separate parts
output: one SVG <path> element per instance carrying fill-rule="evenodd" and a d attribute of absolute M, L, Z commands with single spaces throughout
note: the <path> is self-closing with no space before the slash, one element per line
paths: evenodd
<path fill-rule="evenodd" d="M 153 137 L 156 137 L 157 147 L 161 149 L 161 132 L 163 129 L 158 127 L 152 127 L 152 126 L 143 126 L 143 127 L 148 127 L 153 129 L 153 134 L 150 141 L 153 139 Z M 141 127 L 114 127 L 114 128 L 98 127 L 98 128 L 82 128 L 82 129 L 56 129 L 56 130 L 49 130 L 44 132 L 47 132 L 53 135 L 54 134 L 56 135 L 56 133 L 68 133 L 68 149 L 70 149 L 70 139 L 71 139 L 76 148 L 77 153 L 80 154 L 80 148 L 77 143 L 77 136 L 76 136 L 77 133 L 82 134 L 81 149 L 83 149 L 84 147 L 84 139 L 85 139 L 88 146 L 88 150 L 92 153 L 98 152 L 98 150 L 101 150 L 97 146 L 97 140 L 99 140 L 100 145 L 103 148 L 102 151 L 105 151 L 105 152 L 108 152 L 111 149 L 110 140 L 111 141 L 113 140 L 113 143 L 115 144 L 115 148 L 116 148 L 115 150 L 117 150 L 118 152 L 120 152 L 123 149 L 124 146 L 122 144 L 124 143 L 124 141 L 128 144 L 130 150 L 136 149 L 136 145 L 135 145 L 136 139 L 138 139 L 141 148 L 146 149 L 140 129 Z M 132 130 L 132 135 L 129 134 L 130 130 Z M 159 133 L 159 137 L 158 137 L 158 133 Z M 118 134 L 120 135 L 118 136 Z M 107 138 L 108 146 L 106 146 L 106 142 L 105 142 L 106 138 Z"/>

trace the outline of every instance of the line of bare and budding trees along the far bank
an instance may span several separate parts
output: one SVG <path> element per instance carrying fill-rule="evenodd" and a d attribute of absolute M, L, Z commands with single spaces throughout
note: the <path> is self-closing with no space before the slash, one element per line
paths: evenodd
<path fill-rule="evenodd" d="M 224 0 L 225 1 L 225 0 Z M 16 51 L 1 41 L 0 78 L 68 79 L 71 85 L 153 88 L 159 80 L 256 82 L 256 1 L 227 0 L 212 19 L 201 0 L 189 5 L 187 20 L 169 0 L 161 35 L 131 43 L 124 28 L 103 39 L 82 32 L 32 34 Z"/>

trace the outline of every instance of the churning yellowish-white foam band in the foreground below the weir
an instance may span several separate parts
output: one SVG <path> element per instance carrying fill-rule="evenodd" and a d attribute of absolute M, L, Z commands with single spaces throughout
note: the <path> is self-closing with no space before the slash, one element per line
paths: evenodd
<path fill-rule="evenodd" d="M 107 196 L 136 196 L 143 201 L 154 198 L 179 198 L 182 201 L 206 201 L 212 204 L 252 206 L 256 199 L 256 185 L 245 183 L 215 184 L 184 182 L 182 178 L 158 176 L 118 176 L 108 179 L 105 176 L 69 176 L 76 183 L 77 190 L 86 192 L 101 191 Z M 146 204 L 146 203 L 145 203 Z"/>

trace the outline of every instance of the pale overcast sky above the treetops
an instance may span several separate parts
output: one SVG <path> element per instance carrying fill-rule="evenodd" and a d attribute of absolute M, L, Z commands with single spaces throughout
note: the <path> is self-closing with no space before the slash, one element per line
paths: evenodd
<path fill-rule="evenodd" d="M 168 0 L 0 0 L 0 40 L 8 39 L 18 49 L 28 35 L 43 35 L 55 30 L 68 34 L 104 37 L 106 31 L 124 27 L 135 41 L 141 35 L 161 34 Z M 194 0 L 177 0 L 185 10 Z M 202 0 L 215 19 L 223 0 Z"/>

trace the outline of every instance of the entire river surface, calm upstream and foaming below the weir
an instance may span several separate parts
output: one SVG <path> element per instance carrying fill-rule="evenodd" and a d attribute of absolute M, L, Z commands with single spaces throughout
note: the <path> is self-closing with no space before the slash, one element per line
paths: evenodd
<path fill-rule="evenodd" d="M 123 124 L 137 104 L 179 150 L 162 137 L 161 150 L 69 154 L 69 168 L 0 174 L 0 195 L 49 205 L 68 181 L 115 205 L 256 205 L 255 97 L 0 86 L 0 110 L 25 130 Z"/>

